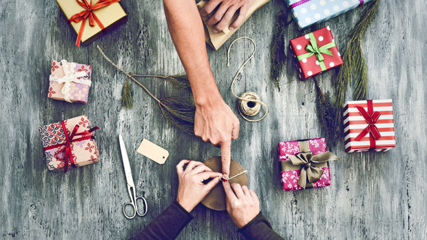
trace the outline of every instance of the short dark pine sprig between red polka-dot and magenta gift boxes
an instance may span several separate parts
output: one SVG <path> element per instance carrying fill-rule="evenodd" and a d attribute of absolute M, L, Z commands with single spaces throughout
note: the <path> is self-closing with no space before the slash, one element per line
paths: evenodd
<path fill-rule="evenodd" d="M 337 140 L 337 133 L 335 132 L 335 107 L 333 106 L 329 93 L 323 94 L 317 83 L 317 80 L 315 78 L 313 78 L 313 80 L 317 91 L 317 118 L 319 118 L 320 124 L 322 126 L 322 132 L 325 134 L 328 145 L 333 147 L 335 146 L 335 142 Z"/>

